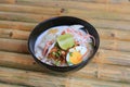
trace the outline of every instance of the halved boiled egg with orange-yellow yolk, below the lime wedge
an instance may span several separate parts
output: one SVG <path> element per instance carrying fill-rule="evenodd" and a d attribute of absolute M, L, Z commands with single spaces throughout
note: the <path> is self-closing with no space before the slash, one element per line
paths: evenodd
<path fill-rule="evenodd" d="M 79 64 L 80 62 L 82 62 L 86 53 L 87 48 L 82 46 L 77 46 L 69 49 L 66 55 L 66 61 L 68 65 Z"/>

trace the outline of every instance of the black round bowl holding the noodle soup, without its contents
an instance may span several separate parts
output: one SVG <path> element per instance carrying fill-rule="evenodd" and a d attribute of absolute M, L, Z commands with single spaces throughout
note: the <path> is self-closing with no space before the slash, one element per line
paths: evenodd
<path fill-rule="evenodd" d="M 53 66 L 53 65 L 49 65 L 49 64 L 41 62 L 35 57 L 35 42 L 41 33 L 46 32 L 50 27 L 61 26 L 61 25 L 75 25 L 75 24 L 83 25 L 88 29 L 89 34 L 95 38 L 95 46 L 93 48 L 93 53 L 88 60 L 82 61 L 81 63 L 77 65 L 72 65 L 72 66 Z M 77 17 L 73 17 L 73 16 L 58 16 L 58 17 L 53 17 L 46 22 L 39 23 L 35 27 L 35 29 L 31 32 L 31 34 L 29 35 L 29 39 L 28 39 L 28 49 L 31 55 L 34 57 L 35 61 L 41 64 L 42 66 L 46 66 L 47 69 L 53 70 L 56 72 L 70 72 L 70 71 L 76 71 L 76 70 L 83 67 L 93 58 L 93 55 L 99 49 L 99 46 L 100 46 L 100 37 L 95 28 L 88 22 L 77 18 Z"/>

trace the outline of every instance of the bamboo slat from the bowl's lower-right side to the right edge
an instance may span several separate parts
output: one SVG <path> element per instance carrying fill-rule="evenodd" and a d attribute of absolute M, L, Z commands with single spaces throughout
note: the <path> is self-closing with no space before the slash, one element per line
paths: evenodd
<path fill-rule="evenodd" d="M 130 66 L 130 52 L 100 49 L 92 62 Z"/>

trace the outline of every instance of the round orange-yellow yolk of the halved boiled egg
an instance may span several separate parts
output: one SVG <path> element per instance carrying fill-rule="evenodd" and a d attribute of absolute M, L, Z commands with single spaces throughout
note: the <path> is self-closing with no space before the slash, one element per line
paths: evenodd
<path fill-rule="evenodd" d="M 69 55 L 69 61 L 73 64 L 80 63 L 82 61 L 80 52 L 78 52 L 78 51 L 73 52 L 72 55 Z"/>

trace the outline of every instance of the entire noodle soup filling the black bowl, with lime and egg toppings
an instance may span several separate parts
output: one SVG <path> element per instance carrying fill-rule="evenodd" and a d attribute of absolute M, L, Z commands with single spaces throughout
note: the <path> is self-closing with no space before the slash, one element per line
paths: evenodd
<path fill-rule="evenodd" d="M 51 27 L 36 40 L 35 55 L 49 65 L 70 66 L 89 59 L 94 38 L 82 25 Z"/>

